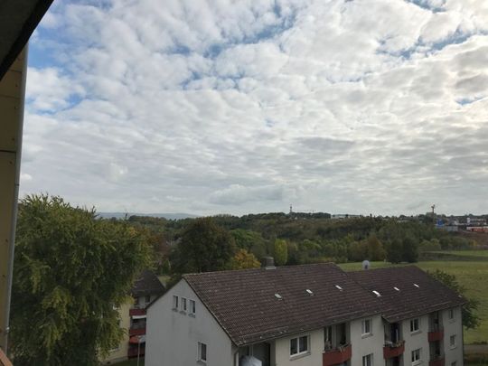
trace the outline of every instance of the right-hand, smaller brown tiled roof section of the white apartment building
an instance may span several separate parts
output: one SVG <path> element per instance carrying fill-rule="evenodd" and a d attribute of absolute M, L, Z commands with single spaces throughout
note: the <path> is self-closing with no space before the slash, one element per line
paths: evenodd
<path fill-rule="evenodd" d="M 380 293 L 381 313 L 390 323 L 465 303 L 463 297 L 416 266 L 368 269 L 349 275 L 366 289 Z"/>

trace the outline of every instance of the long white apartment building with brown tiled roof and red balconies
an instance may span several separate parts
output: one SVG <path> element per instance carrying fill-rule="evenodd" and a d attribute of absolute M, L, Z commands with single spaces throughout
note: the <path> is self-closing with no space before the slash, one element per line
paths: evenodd
<path fill-rule="evenodd" d="M 145 365 L 462 366 L 463 304 L 418 267 L 185 275 L 147 309 Z"/>

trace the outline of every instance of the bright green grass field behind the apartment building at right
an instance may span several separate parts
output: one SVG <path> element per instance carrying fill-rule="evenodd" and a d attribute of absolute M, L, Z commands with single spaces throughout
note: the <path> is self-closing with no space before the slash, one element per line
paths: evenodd
<path fill-rule="evenodd" d="M 472 256 L 487 256 L 486 250 L 455 251 L 458 253 L 470 253 Z M 488 341 L 488 261 L 428 261 L 416 264 L 424 270 L 441 269 L 449 274 L 455 275 L 459 283 L 466 288 L 466 296 L 474 297 L 480 301 L 478 315 L 481 318 L 481 325 L 477 329 L 465 331 L 465 343 L 481 343 Z M 340 264 L 344 270 L 361 269 L 361 263 Z M 371 268 L 393 267 L 385 262 L 372 262 Z"/>

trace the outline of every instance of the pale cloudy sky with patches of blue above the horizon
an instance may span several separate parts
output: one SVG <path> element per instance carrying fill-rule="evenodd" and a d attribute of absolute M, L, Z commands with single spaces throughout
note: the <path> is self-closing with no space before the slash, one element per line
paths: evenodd
<path fill-rule="evenodd" d="M 488 212 L 485 0 L 55 0 L 21 196 L 198 215 Z"/>

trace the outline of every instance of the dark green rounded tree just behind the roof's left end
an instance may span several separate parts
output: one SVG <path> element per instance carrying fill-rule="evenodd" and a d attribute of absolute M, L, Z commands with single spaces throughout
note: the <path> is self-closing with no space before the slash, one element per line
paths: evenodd
<path fill-rule="evenodd" d="M 229 231 L 217 226 L 211 218 L 199 218 L 183 230 L 182 238 L 171 254 L 172 270 L 178 276 L 225 269 L 235 251 Z"/>

